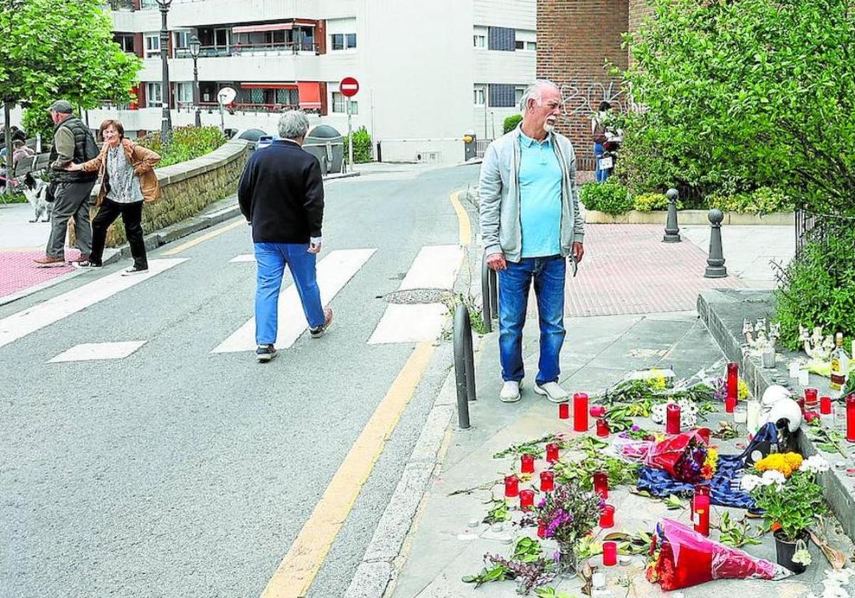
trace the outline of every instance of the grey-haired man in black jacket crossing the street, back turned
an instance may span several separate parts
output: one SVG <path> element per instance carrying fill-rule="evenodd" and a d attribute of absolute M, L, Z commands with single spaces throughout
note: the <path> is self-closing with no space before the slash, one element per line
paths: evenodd
<path fill-rule="evenodd" d="M 309 119 L 299 110 L 282 114 L 279 136 L 247 162 L 238 187 L 240 211 L 252 226 L 258 264 L 256 290 L 256 359 L 276 355 L 278 302 L 282 274 L 291 268 L 312 338 L 333 321 L 321 306 L 315 256 L 321 251 L 323 179 L 321 165 L 303 150 Z"/>

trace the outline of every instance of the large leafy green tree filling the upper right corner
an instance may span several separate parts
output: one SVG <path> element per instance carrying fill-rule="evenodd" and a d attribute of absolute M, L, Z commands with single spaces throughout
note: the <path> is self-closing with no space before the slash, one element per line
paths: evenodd
<path fill-rule="evenodd" d="M 643 110 L 624 126 L 646 160 L 672 166 L 652 170 L 701 193 L 769 185 L 799 207 L 855 214 L 852 0 L 651 3 L 626 38 L 627 91 Z"/>

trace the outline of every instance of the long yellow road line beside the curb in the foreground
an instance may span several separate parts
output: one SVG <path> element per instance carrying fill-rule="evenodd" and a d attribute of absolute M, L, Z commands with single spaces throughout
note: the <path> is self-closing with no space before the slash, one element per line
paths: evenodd
<path fill-rule="evenodd" d="M 416 345 L 270 578 L 262 598 L 302 598 L 309 591 L 432 355 L 433 343 Z"/>

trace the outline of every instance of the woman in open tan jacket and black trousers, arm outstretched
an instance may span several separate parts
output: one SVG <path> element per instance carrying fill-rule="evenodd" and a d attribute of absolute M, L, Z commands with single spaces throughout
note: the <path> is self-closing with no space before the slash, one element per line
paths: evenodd
<path fill-rule="evenodd" d="M 122 276 L 148 272 L 142 226 L 143 203 L 154 202 L 160 197 L 160 185 L 154 167 L 161 157 L 126 139 L 125 127 L 118 120 L 104 120 L 101 123 L 101 137 L 104 144 L 97 157 L 68 167 L 69 170 L 87 173 L 98 171 L 98 180 L 101 182 L 96 203 L 98 212 L 92 219 L 89 260 L 74 265 L 80 268 L 101 267 L 107 229 L 121 214 L 127 243 L 133 255 L 133 267 L 128 268 Z"/>

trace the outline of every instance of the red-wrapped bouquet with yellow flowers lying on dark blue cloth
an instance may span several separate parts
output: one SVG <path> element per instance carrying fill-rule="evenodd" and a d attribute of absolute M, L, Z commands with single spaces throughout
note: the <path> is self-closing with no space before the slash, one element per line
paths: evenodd
<path fill-rule="evenodd" d="M 712 479 L 718 468 L 718 454 L 707 447 L 697 430 L 683 432 L 654 444 L 644 464 L 667 472 L 687 484 Z"/>

